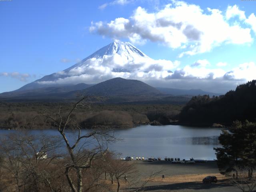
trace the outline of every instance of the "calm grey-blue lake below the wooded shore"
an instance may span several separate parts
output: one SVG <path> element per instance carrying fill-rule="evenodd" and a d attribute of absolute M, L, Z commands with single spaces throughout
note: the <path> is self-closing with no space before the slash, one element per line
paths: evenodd
<path fill-rule="evenodd" d="M 14 130 L 0 130 L 0 135 Z M 56 130 L 30 130 L 32 134 L 58 135 Z M 88 130 L 83 130 L 88 132 Z M 122 153 L 122 157 L 170 157 L 185 159 L 216 159 L 214 147 L 218 142 L 220 128 L 197 128 L 179 125 L 150 126 L 116 130 L 122 141 L 110 144 L 110 150 Z M 72 140 L 72 136 L 70 136 Z"/>

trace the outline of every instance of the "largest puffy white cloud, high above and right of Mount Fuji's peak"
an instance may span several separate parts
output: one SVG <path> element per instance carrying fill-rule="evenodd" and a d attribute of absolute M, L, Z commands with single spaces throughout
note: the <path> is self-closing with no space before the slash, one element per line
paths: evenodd
<path fill-rule="evenodd" d="M 183 48 L 184 55 L 209 52 L 222 44 L 246 44 L 253 41 L 250 28 L 239 23 L 230 25 L 226 17 L 243 12 L 237 6 L 228 7 L 226 15 L 218 9 L 208 8 L 204 12 L 200 6 L 182 1 L 173 1 L 156 12 L 148 12 L 142 7 L 134 10 L 130 18 L 116 18 L 108 23 L 92 23 L 90 32 L 111 38 L 128 38 L 131 42 L 162 42 L 170 48 Z M 248 21 L 253 23 L 254 17 Z"/>

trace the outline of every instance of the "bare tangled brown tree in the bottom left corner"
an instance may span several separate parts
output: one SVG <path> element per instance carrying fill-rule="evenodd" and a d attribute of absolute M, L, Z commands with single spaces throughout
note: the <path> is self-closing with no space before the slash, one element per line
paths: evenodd
<path fill-rule="evenodd" d="M 11 133 L 1 140 L 0 154 L 6 177 L 10 175 L 9 188 L 14 191 L 40 191 L 40 186 L 52 187 L 52 176 L 46 167 L 59 156 L 56 150 L 60 140 L 43 134 Z"/>

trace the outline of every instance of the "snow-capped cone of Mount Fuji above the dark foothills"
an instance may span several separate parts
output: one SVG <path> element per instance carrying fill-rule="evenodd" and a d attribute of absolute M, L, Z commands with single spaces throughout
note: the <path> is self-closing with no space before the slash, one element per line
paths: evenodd
<path fill-rule="evenodd" d="M 138 70 L 148 60 L 154 61 L 129 42 L 115 41 L 70 68 L 46 75 L 18 91 L 88 82 L 96 84 L 120 76 L 127 78 L 131 76 L 134 68 Z"/>

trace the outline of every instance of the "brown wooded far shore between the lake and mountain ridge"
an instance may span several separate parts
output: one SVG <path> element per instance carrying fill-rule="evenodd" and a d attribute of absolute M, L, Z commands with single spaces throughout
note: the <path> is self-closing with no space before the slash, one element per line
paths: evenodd
<path fill-rule="evenodd" d="M 0 129 L 48 129 L 51 122 L 44 118 L 59 110 L 66 112 L 73 103 L 0 102 Z M 173 104 L 92 104 L 80 108 L 72 119 L 82 128 L 132 128 L 138 125 L 159 122 L 170 124 L 176 120 L 182 106 Z"/>

